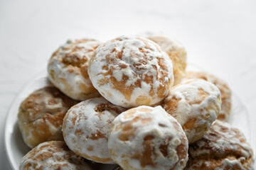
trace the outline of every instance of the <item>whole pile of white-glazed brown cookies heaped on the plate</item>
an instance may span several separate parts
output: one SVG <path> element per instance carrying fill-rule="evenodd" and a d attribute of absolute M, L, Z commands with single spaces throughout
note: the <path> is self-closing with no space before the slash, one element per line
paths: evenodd
<path fill-rule="evenodd" d="M 176 40 L 68 40 L 50 57 L 48 79 L 53 86 L 20 106 L 18 127 L 32 149 L 20 169 L 253 169 L 245 136 L 225 123 L 229 86 L 186 72 Z"/>

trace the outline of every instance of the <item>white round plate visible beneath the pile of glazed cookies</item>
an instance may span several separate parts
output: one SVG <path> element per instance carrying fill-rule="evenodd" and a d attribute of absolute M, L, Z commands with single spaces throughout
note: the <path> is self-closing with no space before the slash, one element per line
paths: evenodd
<path fill-rule="evenodd" d="M 35 79 L 32 79 L 28 82 L 23 89 L 21 89 L 20 93 L 14 99 L 14 102 L 11 104 L 9 108 L 9 113 L 6 118 L 5 125 L 5 147 L 7 157 L 9 159 L 9 163 L 11 164 L 13 169 L 18 169 L 19 162 L 21 158 L 30 150 L 22 140 L 21 133 L 18 130 L 17 125 L 17 115 L 18 108 L 23 101 L 31 92 L 36 89 L 40 89 L 43 86 L 50 84 L 47 79 L 47 73 L 41 72 L 38 74 Z M 233 108 L 231 111 L 230 124 L 235 128 L 239 128 L 242 132 L 244 132 L 247 140 L 250 141 L 251 132 L 250 132 L 250 121 L 249 121 L 249 113 L 248 110 L 240 98 L 233 93 Z M 102 166 L 102 170 L 114 169 L 114 165 Z"/>

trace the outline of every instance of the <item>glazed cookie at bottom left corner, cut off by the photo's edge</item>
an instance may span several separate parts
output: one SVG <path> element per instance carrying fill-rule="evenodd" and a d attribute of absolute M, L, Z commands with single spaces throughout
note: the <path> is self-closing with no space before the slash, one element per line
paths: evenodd
<path fill-rule="evenodd" d="M 63 141 L 43 142 L 21 159 L 20 170 L 92 170 Z"/>

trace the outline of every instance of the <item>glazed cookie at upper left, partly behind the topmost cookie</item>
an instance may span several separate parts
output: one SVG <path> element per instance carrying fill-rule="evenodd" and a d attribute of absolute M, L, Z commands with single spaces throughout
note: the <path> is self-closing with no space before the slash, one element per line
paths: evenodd
<path fill-rule="evenodd" d="M 78 101 L 100 96 L 87 74 L 89 60 L 98 45 L 100 42 L 92 39 L 68 40 L 50 57 L 50 81 L 64 94 Z"/>

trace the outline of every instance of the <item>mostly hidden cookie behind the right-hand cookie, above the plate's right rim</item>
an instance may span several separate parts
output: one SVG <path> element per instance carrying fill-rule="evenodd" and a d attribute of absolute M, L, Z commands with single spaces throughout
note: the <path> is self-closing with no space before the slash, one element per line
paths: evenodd
<path fill-rule="evenodd" d="M 206 72 L 187 72 L 185 79 L 205 79 L 217 86 L 218 89 L 220 89 L 222 101 L 220 113 L 218 114 L 217 119 L 228 120 L 231 110 L 231 90 L 225 81 Z"/>

